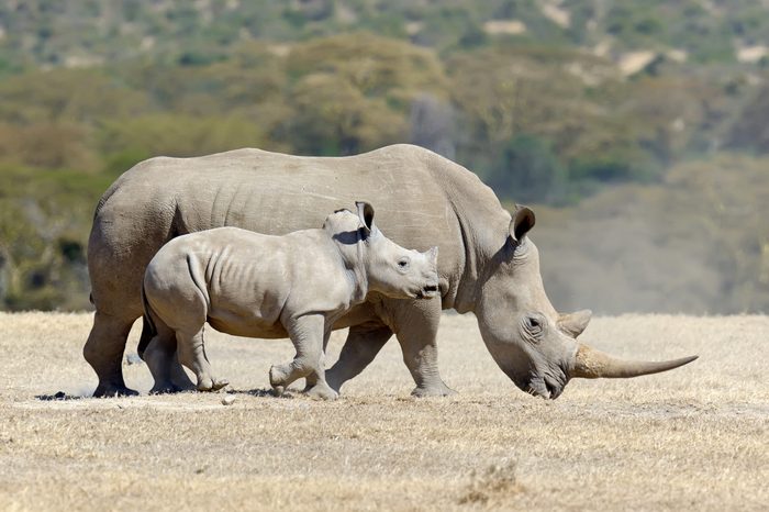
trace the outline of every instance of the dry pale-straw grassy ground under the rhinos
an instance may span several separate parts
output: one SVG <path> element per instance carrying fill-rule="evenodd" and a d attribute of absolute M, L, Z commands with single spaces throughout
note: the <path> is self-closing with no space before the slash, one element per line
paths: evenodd
<path fill-rule="evenodd" d="M 458 391 L 413 399 L 391 341 L 335 402 L 274 398 L 288 341 L 208 330 L 229 393 L 92 399 L 91 315 L 0 314 L 0 510 L 767 510 L 769 318 L 624 315 L 583 337 L 624 357 L 699 354 L 556 401 L 497 368 L 471 315 L 446 315 Z M 126 354 L 135 354 L 134 329 Z M 334 360 L 344 333 L 335 333 Z M 57 392 L 66 400 L 51 400 Z M 225 396 L 234 397 L 230 405 Z"/>

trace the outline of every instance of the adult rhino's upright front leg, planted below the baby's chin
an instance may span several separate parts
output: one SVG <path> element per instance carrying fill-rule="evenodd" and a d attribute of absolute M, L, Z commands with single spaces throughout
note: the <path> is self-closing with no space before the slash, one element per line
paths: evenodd
<path fill-rule="evenodd" d="M 441 322 L 441 300 L 399 301 L 393 305 L 393 327 L 403 350 L 403 363 L 416 388 L 414 397 L 454 394 L 441 379 L 436 337 Z"/>

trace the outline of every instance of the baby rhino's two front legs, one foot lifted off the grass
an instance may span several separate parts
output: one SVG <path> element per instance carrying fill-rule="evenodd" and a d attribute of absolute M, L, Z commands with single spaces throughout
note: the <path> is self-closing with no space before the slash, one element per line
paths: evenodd
<path fill-rule="evenodd" d="M 291 363 L 275 365 L 269 370 L 269 381 L 277 396 L 297 379 L 307 377 L 308 394 L 324 400 L 338 398 L 325 381 L 323 369 L 323 315 L 309 315 L 293 320 L 287 327 L 297 355 Z"/>

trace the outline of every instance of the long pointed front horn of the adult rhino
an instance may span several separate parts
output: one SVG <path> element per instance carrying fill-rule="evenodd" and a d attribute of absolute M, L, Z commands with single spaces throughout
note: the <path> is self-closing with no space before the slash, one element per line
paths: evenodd
<path fill-rule="evenodd" d="M 626 379 L 642 375 L 671 370 L 696 359 L 699 356 L 662 361 L 623 360 L 588 345 L 578 344 L 569 377 L 583 379 Z"/>

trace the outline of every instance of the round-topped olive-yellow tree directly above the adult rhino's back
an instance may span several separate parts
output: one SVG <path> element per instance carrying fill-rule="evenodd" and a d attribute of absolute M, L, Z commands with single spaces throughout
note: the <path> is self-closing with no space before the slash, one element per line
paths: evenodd
<path fill-rule="evenodd" d="M 439 96 L 445 84 L 433 53 L 370 34 L 299 45 L 287 67 L 293 115 L 278 137 L 300 154 L 349 155 L 408 142 L 412 102 Z"/>

